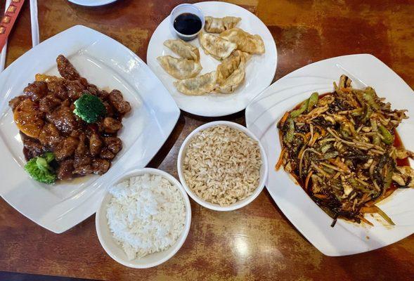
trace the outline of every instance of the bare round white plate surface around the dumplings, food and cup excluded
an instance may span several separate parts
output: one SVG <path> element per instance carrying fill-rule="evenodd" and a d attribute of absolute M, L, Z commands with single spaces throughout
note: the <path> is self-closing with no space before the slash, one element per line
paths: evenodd
<path fill-rule="evenodd" d="M 231 94 L 212 93 L 205 96 L 186 96 L 177 91 L 173 84 L 176 79 L 165 72 L 157 61 L 157 57 L 160 55 L 177 57 L 163 45 L 165 40 L 177 38 L 170 28 L 169 16 L 161 22 L 150 39 L 147 51 L 148 66 L 162 81 L 181 110 L 205 117 L 219 117 L 244 110 L 254 97 L 266 89 L 273 80 L 278 62 L 275 41 L 266 25 L 245 8 L 214 1 L 195 5 L 202 10 L 205 16 L 223 18 L 226 15 L 232 15 L 240 17 L 242 20 L 237 27 L 251 34 L 259 34 L 263 39 L 266 52 L 262 55 L 252 55 L 247 63 L 246 78 L 243 84 Z M 200 48 L 198 39 L 194 39 L 190 43 Z M 219 60 L 206 55 L 202 48 L 200 48 L 200 62 L 202 65 L 200 74 L 216 70 L 220 63 Z"/>

